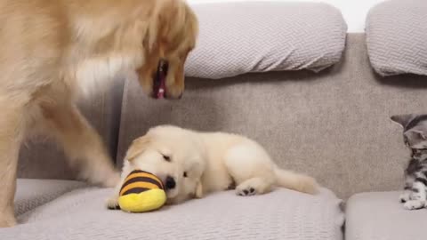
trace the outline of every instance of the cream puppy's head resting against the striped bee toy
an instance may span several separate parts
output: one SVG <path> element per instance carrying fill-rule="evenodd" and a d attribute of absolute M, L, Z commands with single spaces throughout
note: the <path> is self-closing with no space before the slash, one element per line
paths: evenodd
<path fill-rule="evenodd" d="M 196 134 L 173 126 L 152 128 L 133 140 L 125 160 L 132 169 L 159 177 L 165 185 L 168 204 L 200 197 L 205 152 Z"/>

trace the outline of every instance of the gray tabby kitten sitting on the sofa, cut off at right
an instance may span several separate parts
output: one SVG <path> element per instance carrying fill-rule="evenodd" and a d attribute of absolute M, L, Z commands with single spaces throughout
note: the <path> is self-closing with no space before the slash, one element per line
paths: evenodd
<path fill-rule="evenodd" d="M 400 202 L 408 210 L 427 207 L 427 115 L 391 116 L 391 120 L 402 125 L 403 140 L 412 151 Z"/>

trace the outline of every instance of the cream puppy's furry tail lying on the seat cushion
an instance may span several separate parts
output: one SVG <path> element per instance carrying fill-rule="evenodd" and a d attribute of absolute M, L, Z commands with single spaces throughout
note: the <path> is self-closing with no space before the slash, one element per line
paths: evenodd
<path fill-rule="evenodd" d="M 276 173 L 277 184 L 280 187 L 311 195 L 318 193 L 317 181 L 307 175 L 286 171 L 278 167 L 274 172 Z"/>

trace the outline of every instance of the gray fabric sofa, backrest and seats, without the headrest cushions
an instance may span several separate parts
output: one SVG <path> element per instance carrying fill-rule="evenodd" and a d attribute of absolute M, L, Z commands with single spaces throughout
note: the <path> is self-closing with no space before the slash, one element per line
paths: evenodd
<path fill-rule="evenodd" d="M 117 167 L 130 142 L 157 124 L 236 132 L 259 141 L 280 166 L 314 176 L 318 196 L 229 191 L 157 212 L 109 211 L 111 189 L 75 180 L 60 150 L 36 140 L 20 155 L 20 225 L 0 229 L 0 239 L 425 239 L 427 212 L 399 204 L 408 153 L 389 119 L 427 109 L 427 76 L 379 76 L 366 36 L 342 39 L 342 57 L 320 72 L 251 67 L 205 79 L 189 66 L 179 101 L 151 100 L 136 82 L 117 79 L 80 104 Z"/>

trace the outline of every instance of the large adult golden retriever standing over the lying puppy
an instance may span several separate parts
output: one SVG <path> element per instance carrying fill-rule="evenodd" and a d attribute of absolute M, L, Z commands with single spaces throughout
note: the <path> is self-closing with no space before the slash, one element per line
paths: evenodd
<path fill-rule="evenodd" d="M 0 0 L 0 227 L 15 224 L 20 144 L 37 129 L 58 140 L 81 178 L 118 173 L 75 102 L 115 77 L 156 98 L 180 98 L 197 20 L 182 0 Z"/>

